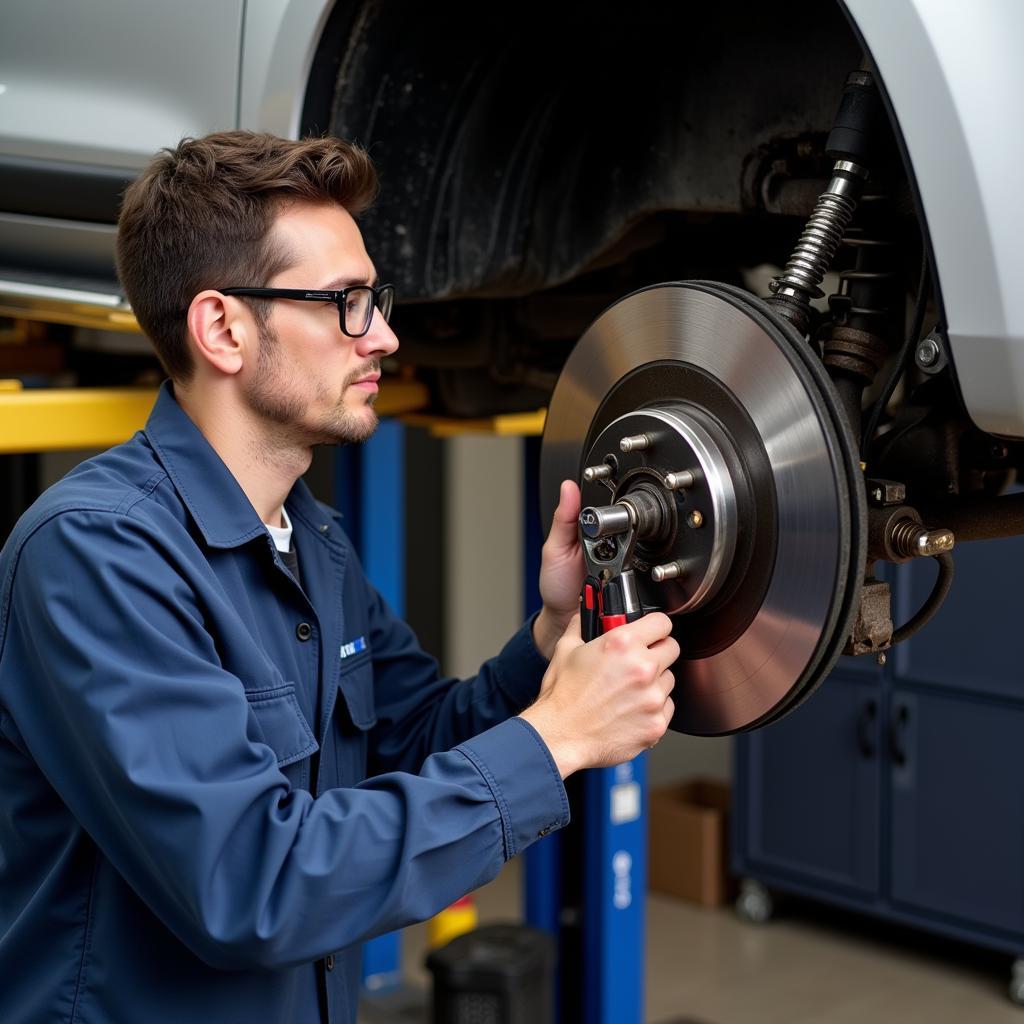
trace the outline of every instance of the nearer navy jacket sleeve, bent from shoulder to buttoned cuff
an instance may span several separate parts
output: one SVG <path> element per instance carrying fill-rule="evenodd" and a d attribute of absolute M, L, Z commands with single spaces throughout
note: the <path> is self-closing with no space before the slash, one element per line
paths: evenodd
<path fill-rule="evenodd" d="M 49 520 L 7 594 L 3 712 L 114 867 L 213 966 L 309 962 L 427 918 L 568 819 L 519 719 L 417 775 L 291 788 L 172 546 L 130 515 Z"/>

